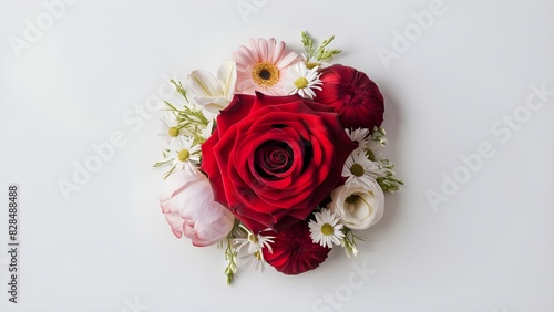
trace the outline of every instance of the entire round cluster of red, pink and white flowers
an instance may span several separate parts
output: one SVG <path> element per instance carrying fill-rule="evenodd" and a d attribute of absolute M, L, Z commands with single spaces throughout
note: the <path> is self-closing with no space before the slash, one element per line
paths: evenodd
<path fill-rule="evenodd" d="M 173 233 L 225 249 L 238 266 L 285 274 L 316 269 L 335 246 L 358 253 L 355 233 L 379 221 L 398 190 L 383 158 L 383 96 L 363 72 L 330 61 L 340 50 L 302 32 L 305 53 L 252 39 L 216 75 L 172 80 L 160 205 Z"/>

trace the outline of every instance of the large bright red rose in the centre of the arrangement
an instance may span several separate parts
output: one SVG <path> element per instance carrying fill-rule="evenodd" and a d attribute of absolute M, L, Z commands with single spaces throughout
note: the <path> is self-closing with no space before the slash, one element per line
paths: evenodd
<path fill-rule="evenodd" d="M 202 146 L 215 200 L 254 232 L 306 219 L 356 148 L 329 111 L 298 95 L 235 95 Z"/>

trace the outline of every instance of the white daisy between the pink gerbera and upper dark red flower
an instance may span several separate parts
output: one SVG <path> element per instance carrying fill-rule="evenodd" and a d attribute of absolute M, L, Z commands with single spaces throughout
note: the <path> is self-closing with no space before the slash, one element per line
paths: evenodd
<path fill-rule="evenodd" d="M 305 98 L 314 98 L 316 93 L 314 89 L 321 90 L 322 82 L 319 80 L 321 75 L 318 73 L 318 67 L 308 70 L 305 63 L 297 63 L 287 69 L 285 94 L 300 94 Z"/>

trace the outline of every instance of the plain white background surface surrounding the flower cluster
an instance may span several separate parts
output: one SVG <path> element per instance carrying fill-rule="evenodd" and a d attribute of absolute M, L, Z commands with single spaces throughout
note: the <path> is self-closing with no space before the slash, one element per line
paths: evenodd
<path fill-rule="evenodd" d="M 48 27 L 42 1 L 0 1 L 0 311 L 554 311 L 554 96 L 523 108 L 531 85 L 554 90 L 553 1 L 444 0 L 406 51 L 394 31 L 432 1 L 75 2 Z M 48 29 L 14 50 L 41 17 Z M 335 34 L 335 62 L 380 86 L 386 153 L 406 187 L 361 233 L 358 258 L 337 249 L 296 277 L 244 268 L 227 287 L 223 250 L 177 240 L 160 211 L 164 142 L 145 107 L 170 76 L 215 72 L 250 37 L 300 52 L 301 30 Z M 382 62 L 380 48 L 398 58 Z M 517 131 L 503 122 L 514 112 Z M 125 145 L 66 201 L 59 179 L 117 132 Z M 460 157 L 482 143 L 494 155 L 463 176 Z M 468 181 L 433 209 L 427 193 L 456 171 Z M 12 183 L 18 304 L 3 251 Z M 356 289 L 352 263 L 373 270 Z"/>

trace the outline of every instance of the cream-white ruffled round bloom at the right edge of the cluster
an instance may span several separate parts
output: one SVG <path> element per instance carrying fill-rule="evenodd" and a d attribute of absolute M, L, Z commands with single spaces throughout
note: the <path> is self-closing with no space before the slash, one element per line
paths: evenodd
<path fill-rule="evenodd" d="M 377 181 L 368 188 L 339 186 L 331 191 L 331 199 L 327 208 L 352 230 L 365 230 L 377 223 L 384 209 L 384 194 Z"/>

